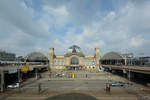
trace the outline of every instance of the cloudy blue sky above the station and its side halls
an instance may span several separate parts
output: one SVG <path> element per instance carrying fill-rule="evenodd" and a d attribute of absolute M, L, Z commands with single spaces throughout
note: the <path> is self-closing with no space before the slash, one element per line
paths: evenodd
<path fill-rule="evenodd" d="M 64 54 L 73 44 L 150 55 L 150 0 L 0 0 L 0 49 Z"/>

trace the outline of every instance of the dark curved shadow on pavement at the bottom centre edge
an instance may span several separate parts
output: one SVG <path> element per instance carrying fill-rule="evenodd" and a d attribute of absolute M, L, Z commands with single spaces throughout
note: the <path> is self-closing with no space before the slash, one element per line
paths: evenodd
<path fill-rule="evenodd" d="M 98 100 L 98 99 L 87 94 L 66 93 L 47 98 L 45 100 Z"/>

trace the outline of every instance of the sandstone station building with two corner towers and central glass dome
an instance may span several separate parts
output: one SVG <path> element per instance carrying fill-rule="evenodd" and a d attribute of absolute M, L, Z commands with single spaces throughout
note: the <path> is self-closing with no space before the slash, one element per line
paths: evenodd
<path fill-rule="evenodd" d="M 73 45 L 66 54 L 60 56 L 55 54 L 54 48 L 50 48 L 49 59 L 50 69 L 96 69 L 99 68 L 100 51 L 95 48 L 94 55 L 84 55 L 79 46 Z"/>

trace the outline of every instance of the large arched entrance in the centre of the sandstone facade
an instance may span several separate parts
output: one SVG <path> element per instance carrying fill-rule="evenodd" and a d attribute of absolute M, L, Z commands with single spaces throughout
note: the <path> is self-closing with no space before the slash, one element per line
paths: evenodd
<path fill-rule="evenodd" d="M 79 69 L 79 59 L 77 57 L 72 57 L 70 60 L 70 69 L 77 70 Z"/>

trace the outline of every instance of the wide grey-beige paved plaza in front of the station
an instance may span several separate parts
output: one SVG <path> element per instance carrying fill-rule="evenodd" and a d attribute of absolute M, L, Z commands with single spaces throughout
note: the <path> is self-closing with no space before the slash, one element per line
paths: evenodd
<path fill-rule="evenodd" d="M 106 93 L 106 83 L 128 82 L 123 77 L 107 72 L 74 71 L 73 73 L 78 77 L 49 78 L 48 72 L 42 73 L 42 78 L 39 80 L 30 78 L 22 83 L 20 89 L 6 91 L 2 96 L 4 99 L 0 100 L 142 100 L 139 98 L 150 95 L 143 90 L 144 86 L 135 83 L 130 86 L 126 84 L 124 87 L 111 87 L 110 93 Z M 83 77 L 84 74 L 87 77 Z M 39 83 L 41 85 L 40 93 L 38 92 Z"/>

